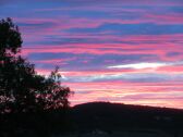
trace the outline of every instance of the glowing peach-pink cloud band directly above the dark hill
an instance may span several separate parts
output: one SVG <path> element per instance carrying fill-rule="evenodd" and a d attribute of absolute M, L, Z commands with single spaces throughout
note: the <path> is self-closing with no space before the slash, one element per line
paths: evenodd
<path fill-rule="evenodd" d="M 111 84 L 111 83 L 110 83 Z M 108 85 L 107 83 L 103 86 Z M 141 105 L 156 105 L 169 108 L 182 108 L 181 91 L 175 91 L 178 85 L 167 87 L 164 86 L 135 86 L 114 84 L 117 89 L 106 87 L 101 89 L 102 84 L 91 84 L 86 89 L 78 89 L 83 87 L 82 84 L 77 85 L 77 90 L 74 97 L 71 98 L 72 104 L 90 101 L 110 101 Z M 90 87 L 91 86 L 91 87 Z M 96 87 L 96 89 L 95 89 Z M 114 86 L 113 86 L 114 87 Z M 180 87 L 183 89 L 183 87 Z M 174 89 L 174 91 L 172 90 Z M 78 91 L 78 92 L 77 92 Z M 87 91 L 85 94 L 85 91 Z M 180 96 L 175 96 L 180 95 Z M 77 102 L 78 101 L 78 102 Z"/>

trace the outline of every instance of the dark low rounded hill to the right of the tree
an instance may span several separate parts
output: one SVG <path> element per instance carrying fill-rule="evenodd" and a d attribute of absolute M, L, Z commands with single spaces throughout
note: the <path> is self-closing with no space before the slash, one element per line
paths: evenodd
<path fill-rule="evenodd" d="M 109 102 L 78 104 L 71 110 L 74 130 L 107 134 L 117 130 L 148 130 L 182 134 L 183 110 Z"/>

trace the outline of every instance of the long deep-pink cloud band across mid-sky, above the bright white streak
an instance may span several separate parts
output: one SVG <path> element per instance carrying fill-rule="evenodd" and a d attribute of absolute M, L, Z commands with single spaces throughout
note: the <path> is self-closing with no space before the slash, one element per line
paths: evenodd
<path fill-rule="evenodd" d="M 167 47 L 167 48 L 164 48 Z M 105 49 L 105 50 L 103 50 Z M 28 55 L 30 53 L 89 53 L 89 54 L 151 54 L 158 55 L 163 61 L 179 61 L 183 59 L 182 47 L 179 43 L 71 43 L 64 46 L 35 46 L 35 48 L 23 48 L 22 53 Z M 168 57 L 169 52 L 179 52 L 178 55 Z M 147 57 L 144 57 L 147 58 Z M 150 57 L 148 58 L 150 59 Z M 151 61 L 155 59 L 151 57 Z"/>

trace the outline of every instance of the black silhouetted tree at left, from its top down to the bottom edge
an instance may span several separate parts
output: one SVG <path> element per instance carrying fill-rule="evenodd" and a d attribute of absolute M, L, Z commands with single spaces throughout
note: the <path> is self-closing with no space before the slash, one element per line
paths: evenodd
<path fill-rule="evenodd" d="M 11 18 L 0 21 L 0 136 L 37 135 L 59 125 L 65 128 L 69 87 L 60 83 L 58 67 L 48 77 L 20 55 L 22 37 Z M 30 135 L 30 134 L 29 134 Z"/>

